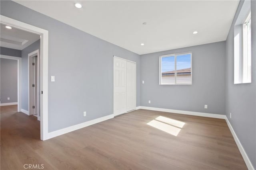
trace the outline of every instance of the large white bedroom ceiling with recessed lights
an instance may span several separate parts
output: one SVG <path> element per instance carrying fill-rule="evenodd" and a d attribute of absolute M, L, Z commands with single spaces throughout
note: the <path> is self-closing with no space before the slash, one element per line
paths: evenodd
<path fill-rule="evenodd" d="M 77 0 L 15 2 L 137 54 L 224 41 L 239 3 L 80 1 L 83 8 L 78 9 Z"/>

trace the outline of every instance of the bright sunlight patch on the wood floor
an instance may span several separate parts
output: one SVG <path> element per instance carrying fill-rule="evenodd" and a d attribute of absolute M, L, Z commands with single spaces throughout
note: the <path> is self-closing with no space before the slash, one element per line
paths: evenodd
<path fill-rule="evenodd" d="M 147 125 L 155 127 L 156 129 L 171 135 L 177 136 L 180 133 L 180 128 L 182 128 L 185 123 L 182 121 L 170 119 L 168 117 L 158 116 L 156 119 L 148 122 Z"/>

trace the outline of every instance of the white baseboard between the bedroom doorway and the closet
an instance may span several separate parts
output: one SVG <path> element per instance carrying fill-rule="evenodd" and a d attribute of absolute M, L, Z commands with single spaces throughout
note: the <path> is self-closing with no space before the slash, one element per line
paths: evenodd
<path fill-rule="evenodd" d="M 60 130 L 57 130 L 57 131 L 53 131 L 53 132 L 48 133 L 48 139 L 53 138 L 53 137 L 57 137 L 59 135 L 63 135 L 65 133 L 69 133 L 69 132 L 75 131 L 77 129 L 81 129 L 83 127 L 87 127 L 87 126 L 93 125 L 95 123 L 99 123 L 101 121 L 112 119 L 112 118 L 114 118 L 114 114 L 107 115 L 107 116 L 104 116 L 104 117 L 100 117 L 98 119 L 93 119 L 91 121 L 86 121 L 84 123 L 80 123 L 80 124 L 77 124 L 77 125 L 66 127 L 66 128 L 63 128 L 63 129 L 60 129 Z"/>

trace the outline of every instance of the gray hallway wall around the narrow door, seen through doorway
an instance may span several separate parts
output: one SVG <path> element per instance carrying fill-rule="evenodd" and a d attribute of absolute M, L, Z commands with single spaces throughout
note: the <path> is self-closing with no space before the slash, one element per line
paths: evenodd
<path fill-rule="evenodd" d="M 28 111 L 28 54 L 38 49 L 40 49 L 40 39 L 21 51 L 21 56 L 22 56 L 21 108 L 26 111 Z"/>

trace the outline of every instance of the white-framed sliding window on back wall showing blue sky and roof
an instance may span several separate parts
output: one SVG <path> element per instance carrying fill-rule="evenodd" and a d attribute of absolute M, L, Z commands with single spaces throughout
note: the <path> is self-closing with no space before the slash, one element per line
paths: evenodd
<path fill-rule="evenodd" d="M 192 84 L 192 53 L 160 56 L 159 84 Z"/>

